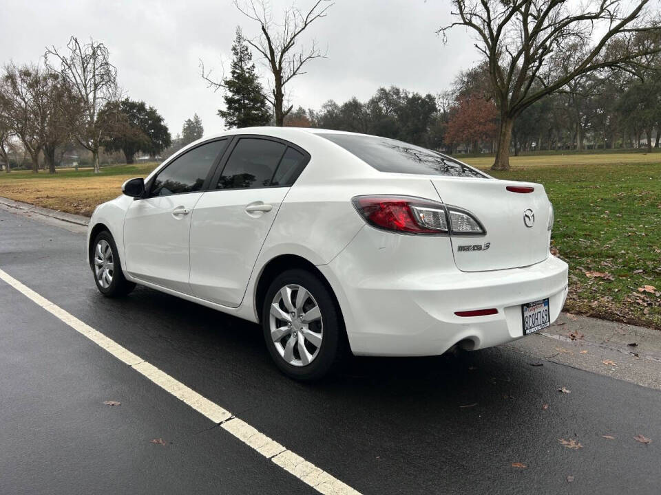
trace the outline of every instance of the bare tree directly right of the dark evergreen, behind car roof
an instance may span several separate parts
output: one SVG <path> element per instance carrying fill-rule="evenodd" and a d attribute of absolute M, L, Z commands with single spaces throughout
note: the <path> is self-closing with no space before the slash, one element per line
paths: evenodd
<path fill-rule="evenodd" d="M 268 0 L 234 0 L 234 5 L 242 14 L 260 25 L 260 36 L 246 41 L 264 57 L 266 66 L 273 75 L 272 85 L 269 85 L 271 95 L 266 95 L 266 100 L 273 106 L 276 126 L 284 125 L 284 118 L 293 108 L 292 105 L 283 108 L 286 84 L 295 76 L 305 74 L 302 72 L 305 63 L 326 56 L 315 41 L 310 47 L 300 47 L 298 50 L 296 42 L 311 23 L 326 17 L 326 12 L 333 6 L 333 3 L 329 2 L 330 0 L 317 0 L 306 13 L 293 4 L 284 10 L 282 23 L 276 23 Z M 204 73 L 204 65 L 202 77 L 207 80 L 209 87 L 223 87 L 222 80 L 214 81 L 209 72 Z"/>

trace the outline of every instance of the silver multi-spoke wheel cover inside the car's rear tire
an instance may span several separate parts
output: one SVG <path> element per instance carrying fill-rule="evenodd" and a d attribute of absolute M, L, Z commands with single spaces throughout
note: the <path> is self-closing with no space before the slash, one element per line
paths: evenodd
<path fill-rule="evenodd" d="M 288 284 L 273 297 L 269 311 L 271 340 L 292 366 L 307 366 L 319 354 L 324 327 L 317 301 L 302 285 Z"/>

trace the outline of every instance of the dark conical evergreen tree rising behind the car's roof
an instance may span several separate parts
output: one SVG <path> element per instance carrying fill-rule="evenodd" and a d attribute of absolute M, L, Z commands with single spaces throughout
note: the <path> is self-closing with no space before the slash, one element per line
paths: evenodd
<path fill-rule="evenodd" d="M 236 38 L 232 45 L 231 77 L 225 78 L 224 96 L 226 110 L 218 110 L 218 115 L 232 127 L 263 126 L 271 121 L 271 112 L 266 107 L 264 89 L 255 73 L 253 55 L 243 37 L 241 28 L 236 28 Z"/>

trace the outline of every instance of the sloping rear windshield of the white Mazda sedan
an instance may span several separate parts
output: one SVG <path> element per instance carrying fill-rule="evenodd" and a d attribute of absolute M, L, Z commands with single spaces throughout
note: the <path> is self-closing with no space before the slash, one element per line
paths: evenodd
<path fill-rule="evenodd" d="M 355 134 L 318 134 L 339 144 L 346 151 L 379 170 L 379 172 L 450 175 L 452 177 L 488 178 L 488 175 L 436 151 L 413 144 Z"/>

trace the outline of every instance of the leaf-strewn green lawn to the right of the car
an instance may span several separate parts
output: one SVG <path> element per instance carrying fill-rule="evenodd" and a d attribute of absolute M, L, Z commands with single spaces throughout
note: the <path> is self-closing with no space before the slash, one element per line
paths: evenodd
<path fill-rule="evenodd" d="M 570 267 L 569 311 L 661 329 L 658 160 L 578 165 L 535 160 L 509 172 L 489 170 L 501 179 L 545 186 L 556 213 L 552 242 Z M 646 285 L 655 292 L 638 291 Z"/>

